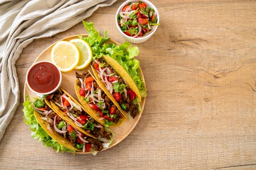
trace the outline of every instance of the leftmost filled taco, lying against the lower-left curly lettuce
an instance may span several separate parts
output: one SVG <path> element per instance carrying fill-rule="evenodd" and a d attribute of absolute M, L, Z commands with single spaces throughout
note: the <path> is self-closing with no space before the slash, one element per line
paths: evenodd
<path fill-rule="evenodd" d="M 36 101 L 40 101 L 40 107 L 44 107 L 37 108 L 38 105 L 36 105 L 37 107 L 33 105 L 35 119 L 56 142 L 64 147 L 83 152 L 86 150 L 94 155 L 97 153 L 96 151 L 102 150 L 103 144 L 101 141 L 87 136 L 70 125 L 55 113 L 52 105 L 44 103 L 44 99 L 36 99 Z"/>

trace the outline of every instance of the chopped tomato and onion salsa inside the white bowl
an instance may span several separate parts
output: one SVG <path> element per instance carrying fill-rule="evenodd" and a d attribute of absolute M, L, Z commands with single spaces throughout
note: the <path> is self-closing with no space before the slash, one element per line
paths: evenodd
<path fill-rule="evenodd" d="M 117 20 L 122 32 L 134 38 L 144 37 L 160 25 L 157 23 L 157 11 L 141 1 L 126 4 L 119 11 Z"/>

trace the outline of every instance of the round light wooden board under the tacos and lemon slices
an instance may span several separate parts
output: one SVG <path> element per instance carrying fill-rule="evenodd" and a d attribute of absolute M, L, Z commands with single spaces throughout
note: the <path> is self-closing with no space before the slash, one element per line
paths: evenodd
<path fill-rule="evenodd" d="M 72 39 L 76 39 L 78 38 L 77 37 L 78 35 L 73 35 L 73 36 L 70 36 L 70 37 L 67 37 L 67 38 L 64 38 L 62 40 L 64 41 L 70 41 Z M 87 34 L 82 34 L 83 37 L 87 37 L 88 35 Z M 61 40 L 60 40 L 61 41 Z M 56 42 L 55 42 L 56 43 Z M 50 45 L 48 48 L 46 48 L 36 59 L 35 59 L 35 62 L 38 62 L 38 61 L 51 61 L 51 50 L 52 50 L 52 46 L 55 44 L 53 43 L 52 45 Z M 118 42 L 110 39 L 110 40 L 107 40 L 105 42 L 106 44 L 116 44 L 116 45 L 120 45 Z M 34 63 L 35 63 L 34 62 Z M 90 65 L 85 68 L 85 69 L 89 69 L 91 70 L 90 68 Z M 84 69 L 84 70 L 85 70 Z M 78 98 L 76 96 L 76 92 L 75 92 L 75 89 L 74 89 L 74 83 L 75 83 L 75 80 L 76 80 L 76 76 L 75 76 L 75 71 L 77 71 L 78 73 L 82 73 L 83 70 L 72 70 L 72 71 L 68 71 L 68 72 L 62 72 L 62 85 L 61 85 L 61 88 L 63 88 L 65 91 L 67 91 L 70 95 L 72 95 L 77 101 Z M 144 79 L 144 76 L 143 76 L 143 72 L 140 68 L 140 75 L 142 76 L 143 80 L 145 81 Z M 28 86 L 26 85 L 26 82 L 25 82 L 25 85 L 24 85 L 24 96 L 25 95 L 28 95 L 30 97 L 30 99 L 32 99 L 33 97 L 37 97 L 35 95 L 35 93 L 33 93 L 32 91 L 29 90 Z M 24 101 L 26 100 L 26 98 L 24 97 Z M 141 107 L 142 107 L 142 113 L 143 113 L 143 110 L 144 110 L 144 106 L 145 106 L 145 100 L 146 98 L 142 98 L 142 102 L 141 102 Z M 104 148 L 103 150 L 107 150 L 113 146 L 115 146 L 116 144 L 118 144 L 119 142 L 121 142 L 123 139 L 125 139 L 126 136 L 128 136 L 131 131 L 134 129 L 134 127 L 137 125 L 137 123 L 139 122 L 140 120 L 140 117 L 141 117 L 141 114 L 137 115 L 135 117 L 135 119 L 132 119 L 131 121 L 127 120 L 125 123 L 123 123 L 121 126 L 119 127 L 110 127 L 113 132 L 115 133 L 115 137 L 113 139 L 113 142 L 112 144 L 110 145 L 110 147 L 108 148 Z M 102 151 L 103 151 L 102 150 Z M 82 153 L 82 152 L 76 152 L 76 153 L 81 153 L 81 154 L 87 154 L 87 153 Z"/>

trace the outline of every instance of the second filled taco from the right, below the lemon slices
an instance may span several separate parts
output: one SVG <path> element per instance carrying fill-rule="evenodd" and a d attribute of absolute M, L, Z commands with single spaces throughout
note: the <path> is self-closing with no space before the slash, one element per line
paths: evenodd
<path fill-rule="evenodd" d="M 104 123 L 106 127 L 116 127 L 127 120 L 125 114 L 113 104 L 110 96 L 105 94 L 105 88 L 99 85 L 89 70 L 82 74 L 76 72 L 76 78 L 76 95 L 85 110 L 98 122 Z"/>

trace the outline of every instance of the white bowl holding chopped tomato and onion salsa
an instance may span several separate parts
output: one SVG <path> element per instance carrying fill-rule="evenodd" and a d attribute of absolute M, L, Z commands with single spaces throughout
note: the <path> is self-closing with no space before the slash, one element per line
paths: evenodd
<path fill-rule="evenodd" d="M 147 6 L 153 8 L 155 11 L 157 11 L 157 8 L 151 3 L 149 2 L 148 0 L 140 0 L 142 1 L 143 3 L 146 3 Z M 124 37 L 124 39 L 128 42 L 131 42 L 131 43 L 134 43 L 134 44 L 137 44 L 137 43 L 142 43 L 142 42 L 145 42 L 146 40 L 148 40 L 153 34 L 154 32 L 157 30 L 157 27 L 155 27 L 155 29 L 150 33 L 148 34 L 147 36 L 145 37 L 141 37 L 141 38 L 133 38 L 133 37 L 129 37 L 128 35 L 126 35 L 125 33 L 123 33 L 123 31 L 121 30 L 121 28 L 119 27 L 118 25 L 118 21 L 117 21 L 117 15 L 119 14 L 119 11 L 122 10 L 123 7 L 125 7 L 126 4 L 128 3 L 137 3 L 138 0 L 127 0 L 125 1 L 124 3 L 122 3 L 122 5 L 118 8 L 118 10 L 116 11 L 116 27 L 118 29 L 118 31 L 122 34 L 122 36 Z M 157 11 L 157 23 L 159 23 L 159 12 Z"/>

